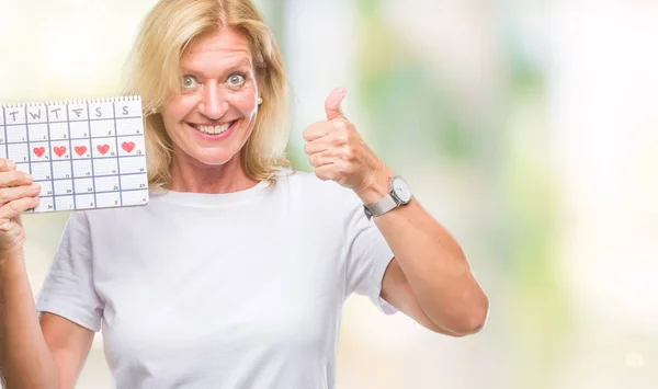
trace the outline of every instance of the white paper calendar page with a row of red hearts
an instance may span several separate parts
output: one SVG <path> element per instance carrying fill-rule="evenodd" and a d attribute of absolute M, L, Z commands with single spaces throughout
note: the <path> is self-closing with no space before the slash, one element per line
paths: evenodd
<path fill-rule="evenodd" d="M 41 184 L 35 213 L 148 203 L 139 96 L 2 105 L 0 157 Z"/>

